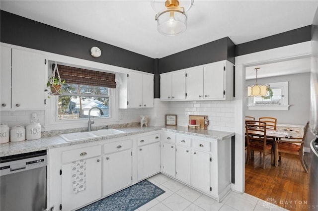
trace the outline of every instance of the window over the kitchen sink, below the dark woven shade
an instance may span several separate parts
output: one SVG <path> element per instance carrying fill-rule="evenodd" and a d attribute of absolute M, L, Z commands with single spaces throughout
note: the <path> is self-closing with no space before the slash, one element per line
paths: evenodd
<path fill-rule="evenodd" d="M 78 84 L 64 84 L 63 95 L 59 96 L 58 114 L 60 120 L 87 118 L 89 109 L 91 116 L 111 117 L 110 106 L 112 89 Z"/>

